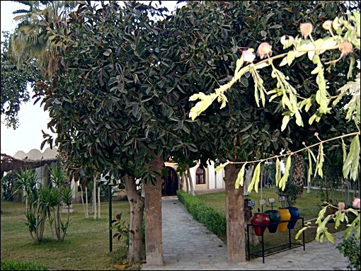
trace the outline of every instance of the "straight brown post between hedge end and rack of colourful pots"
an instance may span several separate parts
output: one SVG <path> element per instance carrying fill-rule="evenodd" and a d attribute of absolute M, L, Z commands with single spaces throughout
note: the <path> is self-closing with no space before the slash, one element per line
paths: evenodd
<path fill-rule="evenodd" d="M 227 250 L 228 259 L 233 262 L 245 262 L 245 230 L 243 186 L 234 187 L 239 168 L 231 163 L 224 168 L 226 185 Z"/>

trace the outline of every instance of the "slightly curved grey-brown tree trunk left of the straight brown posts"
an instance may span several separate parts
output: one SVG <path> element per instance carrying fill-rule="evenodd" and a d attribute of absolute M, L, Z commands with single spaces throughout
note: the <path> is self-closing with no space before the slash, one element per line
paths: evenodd
<path fill-rule="evenodd" d="M 144 212 L 144 197 L 137 192 L 135 180 L 129 176 L 124 177 L 125 191 L 130 204 L 129 221 L 129 250 L 128 263 L 139 263 L 142 260 L 142 221 Z"/>

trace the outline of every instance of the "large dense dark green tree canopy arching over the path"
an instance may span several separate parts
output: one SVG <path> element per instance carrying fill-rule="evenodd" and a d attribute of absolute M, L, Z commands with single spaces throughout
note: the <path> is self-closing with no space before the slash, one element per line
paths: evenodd
<path fill-rule="evenodd" d="M 60 150 L 70 154 L 69 166 L 112 168 L 115 177 L 147 179 L 144 164 L 154 154 L 164 161 L 173 156 L 180 168 L 190 161 L 207 166 L 208 159 L 246 161 L 278 154 L 291 143 L 292 149 L 302 141 L 311 144 L 315 130 L 324 133 L 338 123 L 297 127 L 292 120 L 280 133 L 280 104 L 258 108 L 249 76 L 227 92 L 226 108 L 214 103 L 195 121 L 188 113 L 191 95 L 229 81 L 242 50 L 267 41 L 273 54 L 281 54 L 282 35 L 296 37 L 305 21 L 315 25 L 319 38 L 324 32 L 319 25 L 344 12 L 340 1 L 190 1 L 172 16 L 136 2 L 101 6 L 81 4 L 70 14 L 69 30 L 51 33 L 66 40 L 67 49 L 57 83 L 42 103 L 50 110 Z M 149 18 L 149 11 L 161 19 Z M 305 58 L 282 68 L 300 96 L 314 91 L 311 66 Z M 266 89 L 276 87 L 268 69 L 261 76 Z M 328 80 L 331 95 L 345 82 L 342 76 Z M 311 110 L 302 116 L 305 124 Z"/>

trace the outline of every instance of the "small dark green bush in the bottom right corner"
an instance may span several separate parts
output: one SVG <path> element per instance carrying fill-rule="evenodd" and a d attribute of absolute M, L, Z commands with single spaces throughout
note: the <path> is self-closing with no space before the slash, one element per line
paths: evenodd
<path fill-rule="evenodd" d="M 360 242 L 355 239 L 355 235 L 343 239 L 337 248 L 350 260 L 348 270 L 360 270 Z"/>

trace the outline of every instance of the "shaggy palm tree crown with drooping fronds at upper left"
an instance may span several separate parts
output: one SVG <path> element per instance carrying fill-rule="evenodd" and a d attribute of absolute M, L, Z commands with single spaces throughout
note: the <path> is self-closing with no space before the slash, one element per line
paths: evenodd
<path fill-rule="evenodd" d="M 15 32 L 11 35 L 10 48 L 18 61 L 33 62 L 38 60 L 42 74 L 51 78 L 57 69 L 57 52 L 62 42 L 55 42 L 51 31 L 67 25 L 69 11 L 79 1 L 13 1 L 24 4 L 28 9 L 13 12 L 18 21 Z"/>

